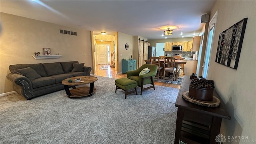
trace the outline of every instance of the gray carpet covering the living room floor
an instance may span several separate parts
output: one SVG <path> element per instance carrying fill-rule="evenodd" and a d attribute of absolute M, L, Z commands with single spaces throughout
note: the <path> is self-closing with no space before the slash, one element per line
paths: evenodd
<path fill-rule="evenodd" d="M 97 77 L 90 97 L 70 99 L 64 90 L 1 97 L 1 144 L 174 143 L 178 89 L 156 86 L 125 99 L 114 78 Z"/>

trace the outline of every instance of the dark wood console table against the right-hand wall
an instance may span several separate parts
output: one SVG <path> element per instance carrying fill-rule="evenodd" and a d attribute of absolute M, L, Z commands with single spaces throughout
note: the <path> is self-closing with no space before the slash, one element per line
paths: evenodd
<path fill-rule="evenodd" d="M 189 84 L 190 76 L 184 76 L 175 102 L 178 112 L 174 144 L 179 144 L 179 141 L 188 144 L 218 144 L 215 137 L 220 132 L 222 118 L 230 120 L 230 115 L 222 103 L 216 108 L 210 108 L 184 100 L 182 93 L 189 90 Z"/>

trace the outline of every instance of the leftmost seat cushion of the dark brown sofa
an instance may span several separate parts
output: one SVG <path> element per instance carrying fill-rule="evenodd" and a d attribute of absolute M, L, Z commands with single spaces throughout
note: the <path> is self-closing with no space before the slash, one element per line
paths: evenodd
<path fill-rule="evenodd" d="M 51 85 L 51 84 L 55 84 L 55 78 L 51 78 L 51 77 L 48 77 L 48 76 L 43 76 L 41 78 L 31 80 L 31 83 L 32 83 L 33 88 L 38 88 L 38 87 L 41 87 L 41 86 L 48 86 L 48 85 Z"/>

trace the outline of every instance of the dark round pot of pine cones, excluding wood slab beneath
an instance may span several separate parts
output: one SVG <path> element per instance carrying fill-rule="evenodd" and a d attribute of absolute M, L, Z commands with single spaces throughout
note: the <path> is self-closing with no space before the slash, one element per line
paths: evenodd
<path fill-rule="evenodd" d="M 188 96 L 202 101 L 212 101 L 214 81 L 205 78 L 193 78 L 189 85 Z"/>

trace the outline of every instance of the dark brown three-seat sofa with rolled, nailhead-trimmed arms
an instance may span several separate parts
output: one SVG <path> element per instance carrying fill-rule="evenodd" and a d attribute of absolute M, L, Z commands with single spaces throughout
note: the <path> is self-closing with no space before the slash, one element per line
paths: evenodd
<path fill-rule="evenodd" d="M 13 89 L 27 100 L 64 89 L 62 80 L 74 76 L 90 76 L 91 67 L 73 62 L 10 65 L 7 74 Z"/>

